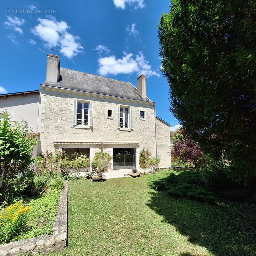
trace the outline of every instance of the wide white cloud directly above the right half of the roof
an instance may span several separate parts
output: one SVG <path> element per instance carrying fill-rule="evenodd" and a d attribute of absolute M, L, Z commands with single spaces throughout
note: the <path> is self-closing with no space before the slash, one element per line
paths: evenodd
<path fill-rule="evenodd" d="M 138 75 L 160 76 L 156 71 L 151 69 L 151 65 L 148 64 L 147 60 L 145 60 L 145 56 L 142 52 L 139 52 L 135 58 L 132 56 L 132 53 L 124 52 L 122 59 L 116 59 L 115 55 L 99 58 L 99 74 L 106 76 L 108 74 L 117 75 L 136 72 Z"/>

